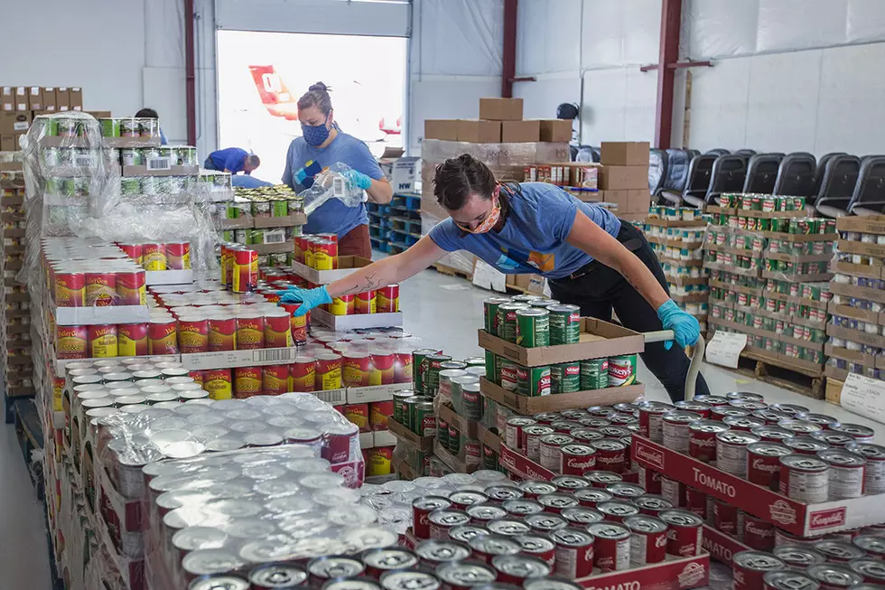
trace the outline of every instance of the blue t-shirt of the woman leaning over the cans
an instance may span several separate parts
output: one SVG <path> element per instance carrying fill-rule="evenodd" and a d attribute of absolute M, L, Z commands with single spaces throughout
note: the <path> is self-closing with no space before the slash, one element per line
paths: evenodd
<path fill-rule="evenodd" d="M 508 275 L 536 273 L 563 278 L 592 262 L 581 248 L 569 244 L 575 212 L 583 211 L 594 223 L 617 237 L 620 220 L 598 205 L 575 199 L 548 183 L 520 183 L 508 192 L 508 217 L 504 227 L 471 234 L 450 217 L 430 230 L 433 242 L 448 252 L 467 250 Z"/>

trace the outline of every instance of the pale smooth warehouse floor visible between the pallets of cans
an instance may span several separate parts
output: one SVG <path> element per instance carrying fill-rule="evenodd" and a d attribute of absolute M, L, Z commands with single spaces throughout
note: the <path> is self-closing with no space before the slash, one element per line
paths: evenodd
<path fill-rule="evenodd" d="M 441 347 L 453 358 L 479 355 L 477 330 L 482 326 L 482 300 L 489 291 L 470 286 L 464 279 L 425 271 L 401 287 L 400 306 L 405 329 L 422 339 L 424 345 Z M 713 393 L 755 391 L 773 402 L 800 404 L 815 412 L 830 414 L 846 422 L 871 426 L 877 438 L 885 438 L 885 425 L 856 416 L 824 401 L 806 398 L 755 379 L 746 379 L 710 365 L 702 369 Z M 666 399 L 666 392 L 645 367 L 639 379 L 647 383 L 646 398 Z M 49 588 L 49 565 L 42 506 L 36 500 L 25 470 L 12 426 L 0 430 L 0 589 Z"/>

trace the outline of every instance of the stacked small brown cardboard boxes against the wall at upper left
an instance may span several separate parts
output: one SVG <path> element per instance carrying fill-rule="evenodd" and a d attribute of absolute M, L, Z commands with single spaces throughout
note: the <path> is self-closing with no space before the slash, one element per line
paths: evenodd
<path fill-rule="evenodd" d="M 0 86 L 0 152 L 18 149 L 36 115 L 67 110 L 83 110 L 82 89 Z"/>

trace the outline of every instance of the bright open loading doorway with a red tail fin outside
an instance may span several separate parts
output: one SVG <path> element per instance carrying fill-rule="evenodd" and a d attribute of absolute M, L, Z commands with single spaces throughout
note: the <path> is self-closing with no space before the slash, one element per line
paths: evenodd
<path fill-rule="evenodd" d="M 256 178 L 279 183 L 301 136 L 295 103 L 311 84 L 331 87 L 341 130 L 375 155 L 402 146 L 407 40 L 307 33 L 218 32 L 219 147 L 261 158 Z"/>

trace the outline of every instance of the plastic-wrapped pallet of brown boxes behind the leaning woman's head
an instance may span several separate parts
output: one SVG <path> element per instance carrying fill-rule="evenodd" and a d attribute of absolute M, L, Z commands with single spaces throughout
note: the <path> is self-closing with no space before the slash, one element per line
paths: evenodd
<path fill-rule="evenodd" d="M 433 175 L 448 158 L 470 154 L 500 181 L 522 182 L 526 166 L 569 161 L 571 121 L 524 120 L 522 98 L 480 98 L 478 119 L 427 119 L 421 146 L 422 233 L 449 216 L 433 196 Z M 454 252 L 445 267 L 471 276 L 474 258 Z"/>

